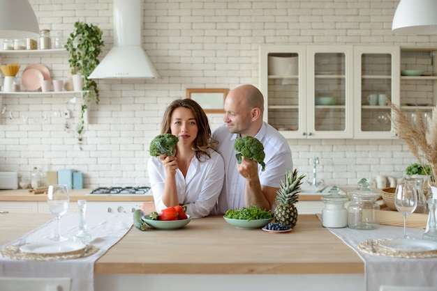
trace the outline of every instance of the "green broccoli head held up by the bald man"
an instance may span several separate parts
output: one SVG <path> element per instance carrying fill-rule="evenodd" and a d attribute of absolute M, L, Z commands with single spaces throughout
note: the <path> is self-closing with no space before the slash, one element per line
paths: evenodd
<path fill-rule="evenodd" d="M 265 170 L 264 158 L 264 146 L 262 143 L 255 139 L 252 136 L 242 136 L 237 137 L 234 143 L 234 148 L 237 150 L 237 161 L 238 164 L 242 163 L 242 157 L 246 157 L 247 159 L 252 159 L 255 162 L 260 163 L 262 166 L 262 171 Z"/>

